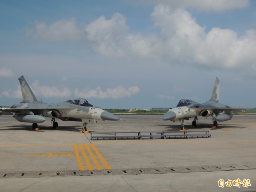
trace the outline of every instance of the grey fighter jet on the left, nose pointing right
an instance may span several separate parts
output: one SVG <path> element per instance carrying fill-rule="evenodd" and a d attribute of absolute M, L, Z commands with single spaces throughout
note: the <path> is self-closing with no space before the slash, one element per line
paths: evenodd
<path fill-rule="evenodd" d="M 19 78 L 23 102 L 12 105 L 0 111 L 0 115 L 13 113 L 13 117 L 20 122 L 32 123 L 32 128 L 38 128 L 38 123 L 44 122 L 44 117 L 52 118 L 52 127 L 58 128 L 58 122 L 55 119 L 63 121 L 79 121 L 83 122 L 82 131 L 87 131 L 88 123 L 96 123 L 96 120 L 120 120 L 117 116 L 94 107 L 86 99 L 73 99 L 56 104 L 47 104 L 38 101 L 30 89 L 25 78 Z"/>

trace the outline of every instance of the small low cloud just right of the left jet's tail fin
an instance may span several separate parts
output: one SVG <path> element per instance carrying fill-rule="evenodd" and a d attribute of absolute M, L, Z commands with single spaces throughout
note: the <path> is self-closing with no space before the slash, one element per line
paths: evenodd
<path fill-rule="evenodd" d="M 32 84 L 31 89 L 36 96 L 44 96 L 45 98 L 63 98 L 70 97 L 71 95 L 71 91 L 67 87 L 63 87 L 62 90 L 59 90 L 56 86 L 41 86 L 38 80 Z"/>

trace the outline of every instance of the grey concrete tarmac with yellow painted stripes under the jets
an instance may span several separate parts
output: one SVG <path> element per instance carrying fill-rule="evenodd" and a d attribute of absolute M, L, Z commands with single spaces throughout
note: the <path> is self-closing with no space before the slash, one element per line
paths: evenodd
<path fill-rule="evenodd" d="M 159 115 L 117 116 L 123 121 L 87 128 L 180 129 L 180 122 L 161 121 Z M 256 191 L 256 116 L 233 116 L 218 128 L 210 118 L 199 118 L 196 128 L 191 123 L 185 121 L 187 130 L 208 130 L 212 137 L 90 140 L 90 133 L 79 132 L 81 122 L 58 120 L 56 130 L 48 118 L 36 131 L 29 123 L 0 116 L 0 192 Z"/>

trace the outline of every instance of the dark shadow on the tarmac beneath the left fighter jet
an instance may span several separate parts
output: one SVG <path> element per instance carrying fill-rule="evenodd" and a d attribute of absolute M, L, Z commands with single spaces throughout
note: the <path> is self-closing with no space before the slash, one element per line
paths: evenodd
<path fill-rule="evenodd" d="M 1 127 L 0 127 L 1 128 Z M 45 131 L 75 131 L 79 132 L 81 128 L 78 125 L 69 125 L 69 126 L 61 126 L 60 128 L 52 128 L 49 126 L 40 126 L 39 130 L 33 130 L 31 125 L 11 125 L 11 126 L 4 126 L 4 129 L 0 129 L 0 131 L 17 131 L 17 130 L 25 130 L 25 131 L 38 131 L 38 132 L 45 132 Z"/>

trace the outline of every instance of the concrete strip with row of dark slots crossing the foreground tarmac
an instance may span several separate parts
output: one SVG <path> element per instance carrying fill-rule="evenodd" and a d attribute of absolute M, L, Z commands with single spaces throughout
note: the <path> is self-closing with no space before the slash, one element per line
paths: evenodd
<path fill-rule="evenodd" d="M 256 165 L 203 165 L 178 166 L 134 169 L 103 169 L 103 170 L 72 170 L 72 171 L 32 171 L 32 172 L 0 172 L 0 178 L 23 177 L 59 177 L 59 176 L 91 176 L 91 175 L 140 175 L 140 174 L 166 174 L 188 172 L 217 172 L 235 170 L 255 170 Z"/>

